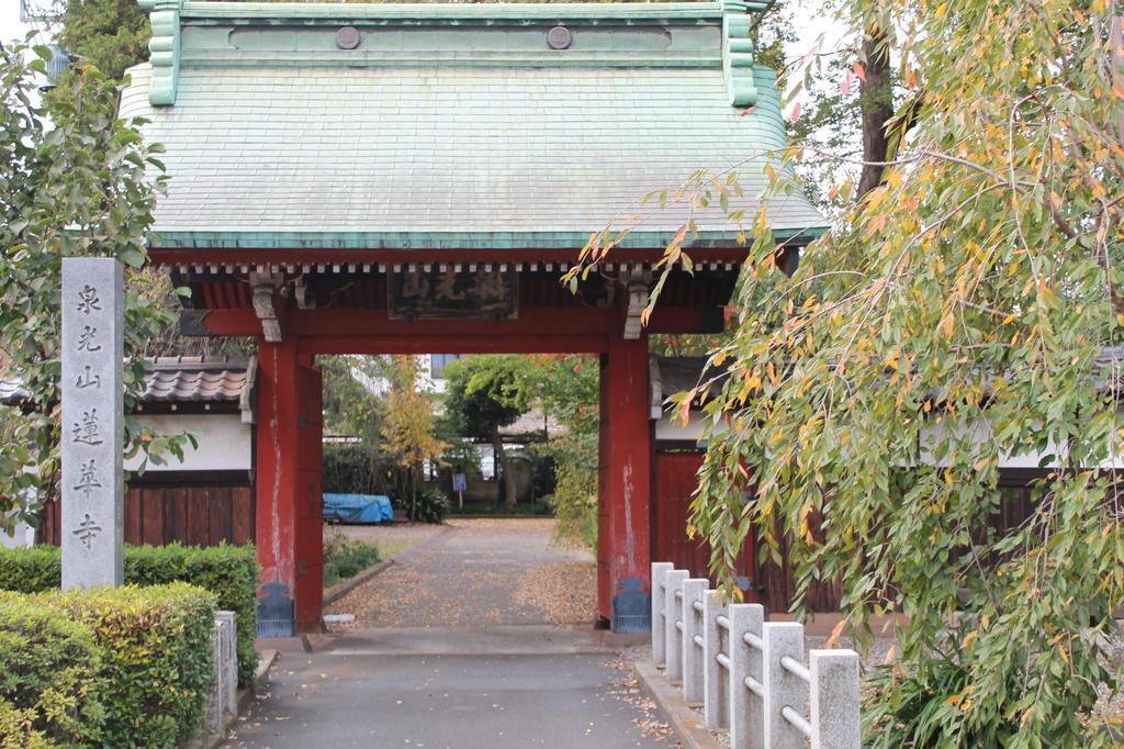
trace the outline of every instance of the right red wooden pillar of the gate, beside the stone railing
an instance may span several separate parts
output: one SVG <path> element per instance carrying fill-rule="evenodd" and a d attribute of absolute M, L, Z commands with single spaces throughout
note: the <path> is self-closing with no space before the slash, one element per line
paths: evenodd
<path fill-rule="evenodd" d="M 598 613 L 615 631 L 640 631 L 651 593 L 647 333 L 623 333 L 622 319 L 601 359 Z"/>

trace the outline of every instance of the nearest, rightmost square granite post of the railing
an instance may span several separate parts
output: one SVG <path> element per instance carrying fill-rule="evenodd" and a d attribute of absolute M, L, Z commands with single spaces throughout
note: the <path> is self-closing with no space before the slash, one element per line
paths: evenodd
<path fill-rule="evenodd" d="M 809 650 L 812 749 L 859 749 L 859 653 Z"/>

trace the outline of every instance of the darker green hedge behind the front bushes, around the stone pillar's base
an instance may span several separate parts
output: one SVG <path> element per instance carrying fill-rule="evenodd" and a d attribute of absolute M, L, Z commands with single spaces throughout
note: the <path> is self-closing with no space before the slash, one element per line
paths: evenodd
<path fill-rule="evenodd" d="M 259 579 L 252 544 L 216 547 L 125 547 L 125 581 L 130 585 L 190 583 L 215 594 L 223 611 L 235 613 L 238 634 L 238 683 L 247 686 L 257 668 Z M 0 590 L 43 593 L 57 589 L 62 557 L 57 547 L 0 549 Z"/>

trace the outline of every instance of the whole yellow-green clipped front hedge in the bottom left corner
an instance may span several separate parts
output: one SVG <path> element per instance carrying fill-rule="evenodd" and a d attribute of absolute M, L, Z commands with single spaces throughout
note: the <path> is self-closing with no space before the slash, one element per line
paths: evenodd
<path fill-rule="evenodd" d="M 215 611 L 214 594 L 184 583 L 0 594 L 0 629 L 15 633 L 0 641 L 0 670 L 26 674 L 2 682 L 0 722 L 34 716 L 27 743 L 180 746 L 202 727 Z M 49 675 L 51 658 L 70 674 Z M 69 714 L 56 714 L 65 705 Z"/>

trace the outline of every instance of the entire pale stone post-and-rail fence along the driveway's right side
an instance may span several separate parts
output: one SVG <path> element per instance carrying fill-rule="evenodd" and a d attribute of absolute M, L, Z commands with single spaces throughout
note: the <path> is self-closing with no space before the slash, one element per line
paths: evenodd
<path fill-rule="evenodd" d="M 652 565 L 652 659 L 733 749 L 860 746 L 858 653 L 809 650 L 805 665 L 803 625 L 725 603 L 670 562 Z"/>

